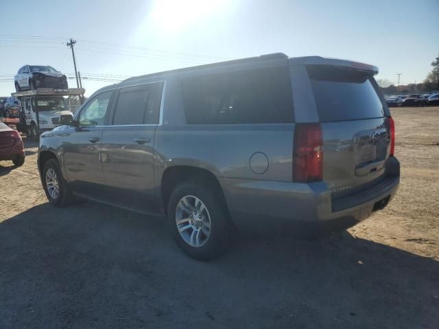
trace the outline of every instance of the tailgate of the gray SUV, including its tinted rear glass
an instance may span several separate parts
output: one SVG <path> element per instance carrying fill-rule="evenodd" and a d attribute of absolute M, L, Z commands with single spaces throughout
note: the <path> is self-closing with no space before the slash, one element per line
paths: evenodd
<path fill-rule="evenodd" d="M 324 65 L 309 65 L 307 73 L 324 138 L 323 179 L 333 197 L 383 180 L 390 113 L 372 73 Z"/>

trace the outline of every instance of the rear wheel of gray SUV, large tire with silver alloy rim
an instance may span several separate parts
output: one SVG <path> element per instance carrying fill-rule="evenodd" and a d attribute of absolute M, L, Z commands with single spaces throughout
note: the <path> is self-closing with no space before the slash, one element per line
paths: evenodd
<path fill-rule="evenodd" d="M 195 181 L 182 182 L 169 197 L 169 227 L 179 247 L 198 260 L 222 255 L 234 228 L 222 197 Z"/>

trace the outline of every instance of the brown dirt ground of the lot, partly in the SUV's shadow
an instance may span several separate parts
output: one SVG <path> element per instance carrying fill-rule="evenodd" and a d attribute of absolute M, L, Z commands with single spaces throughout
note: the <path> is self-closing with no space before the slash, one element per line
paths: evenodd
<path fill-rule="evenodd" d="M 0 162 L 0 328 L 439 328 L 439 108 L 393 109 L 401 186 L 318 240 L 239 237 L 187 258 L 161 218 L 54 209 L 25 141 Z"/>

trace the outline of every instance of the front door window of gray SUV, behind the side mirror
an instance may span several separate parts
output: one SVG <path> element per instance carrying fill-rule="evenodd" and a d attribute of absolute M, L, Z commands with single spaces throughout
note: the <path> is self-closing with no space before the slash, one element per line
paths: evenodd
<path fill-rule="evenodd" d="M 90 125 L 103 125 L 105 114 L 108 110 L 108 103 L 110 102 L 111 91 L 101 93 L 91 99 L 80 113 L 80 127 L 88 127 Z"/>

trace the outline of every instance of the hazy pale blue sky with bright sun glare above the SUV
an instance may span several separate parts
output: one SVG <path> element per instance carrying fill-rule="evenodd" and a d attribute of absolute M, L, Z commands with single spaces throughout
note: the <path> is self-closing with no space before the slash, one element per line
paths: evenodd
<path fill-rule="evenodd" d="M 126 77 L 283 52 L 379 67 L 422 82 L 439 55 L 439 0 L 0 0 L 0 96 L 24 64 L 74 77 L 86 94 Z M 75 87 L 74 79 L 69 86 Z"/>

